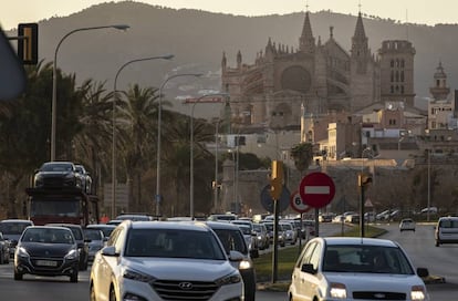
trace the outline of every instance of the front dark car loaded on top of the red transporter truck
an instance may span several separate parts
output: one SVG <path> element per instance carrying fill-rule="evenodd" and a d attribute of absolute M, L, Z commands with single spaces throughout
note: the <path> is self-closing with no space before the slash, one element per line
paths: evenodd
<path fill-rule="evenodd" d="M 73 163 L 46 162 L 37 170 L 33 185 L 42 188 L 77 187 L 82 189 L 83 180 Z"/>

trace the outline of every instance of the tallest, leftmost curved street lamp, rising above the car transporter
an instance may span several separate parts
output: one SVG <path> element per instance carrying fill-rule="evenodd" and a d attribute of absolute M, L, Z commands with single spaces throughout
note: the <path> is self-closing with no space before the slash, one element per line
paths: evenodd
<path fill-rule="evenodd" d="M 52 68 L 52 104 L 51 104 L 51 160 L 55 160 L 55 127 L 56 127 L 56 120 L 58 120 L 58 51 L 62 44 L 62 42 L 71 34 L 79 32 L 79 31 L 87 31 L 87 30 L 96 30 L 96 29 L 117 29 L 117 30 L 126 30 L 129 25 L 126 24 L 114 24 L 114 25 L 104 25 L 104 27 L 91 27 L 91 28 L 80 28 L 74 29 L 66 33 L 58 43 L 58 46 L 54 51 L 54 63 Z"/>

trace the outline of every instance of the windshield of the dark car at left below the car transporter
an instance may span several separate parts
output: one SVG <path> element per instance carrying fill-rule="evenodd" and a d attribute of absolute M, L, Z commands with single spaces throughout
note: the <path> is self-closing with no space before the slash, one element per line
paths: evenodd
<path fill-rule="evenodd" d="M 73 236 L 65 229 L 29 228 L 21 238 L 22 242 L 74 243 Z"/>

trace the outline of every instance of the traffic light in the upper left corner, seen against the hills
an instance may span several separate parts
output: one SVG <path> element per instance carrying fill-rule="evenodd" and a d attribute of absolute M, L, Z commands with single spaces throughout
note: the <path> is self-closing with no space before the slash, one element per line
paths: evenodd
<path fill-rule="evenodd" d="M 38 63 L 38 23 L 18 25 L 18 58 L 25 65 Z"/>

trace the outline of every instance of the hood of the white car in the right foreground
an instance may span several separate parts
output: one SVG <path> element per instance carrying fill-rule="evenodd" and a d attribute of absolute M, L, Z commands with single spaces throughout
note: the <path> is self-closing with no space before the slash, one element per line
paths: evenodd
<path fill-rule="evenodd" d="M 326 272 L 329 282 L 344 283 L 348 291 L 410 291 L 412 286 L 424 286 L 416 274 L 386 274 L 386 273 L 334 273 Z"/>

